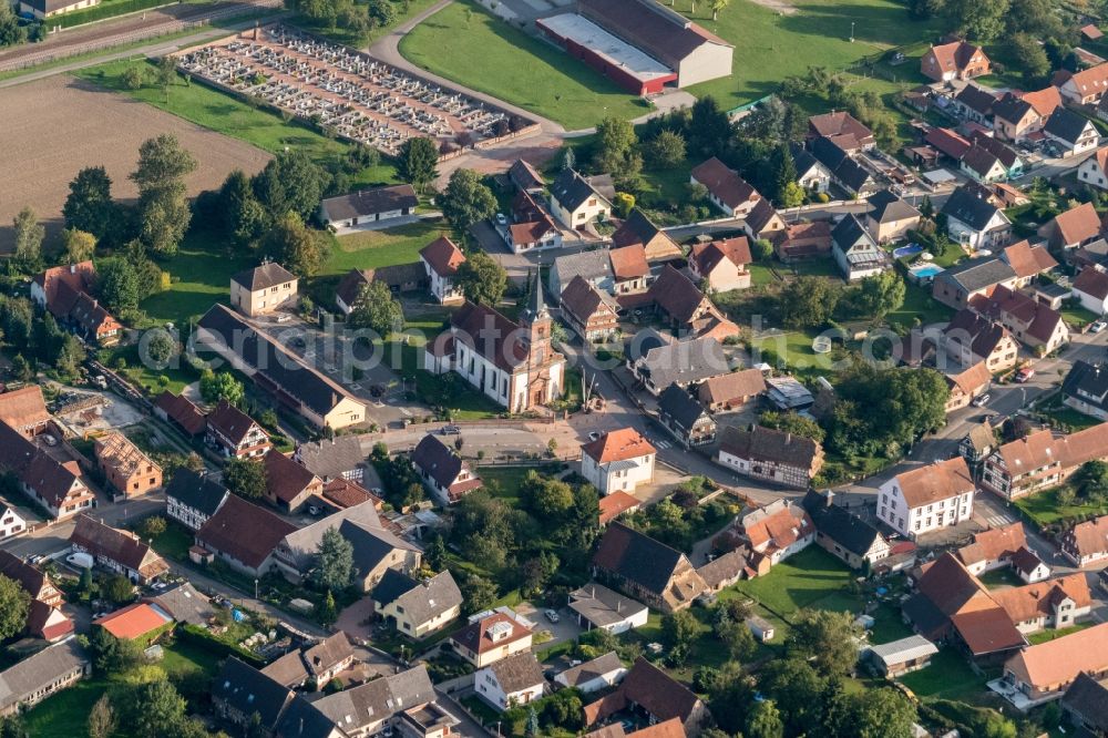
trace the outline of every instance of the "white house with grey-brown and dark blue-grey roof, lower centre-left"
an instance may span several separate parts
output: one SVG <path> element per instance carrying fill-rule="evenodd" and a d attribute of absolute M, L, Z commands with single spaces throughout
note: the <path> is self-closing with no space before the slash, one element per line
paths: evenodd
<path fill-rule="evenodd" d="M 370 597 L 379 617 L 413 638 L 445 627 L 462 612 L 462 593 L 449 571 L 419 581 L 394 568 L 387 570 Z"/>

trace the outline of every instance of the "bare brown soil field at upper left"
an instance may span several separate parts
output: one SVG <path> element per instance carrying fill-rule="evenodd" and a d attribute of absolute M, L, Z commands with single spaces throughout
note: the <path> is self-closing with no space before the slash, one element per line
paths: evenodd
<path fill-rule="evenodd" d="M 69 183 L 86 166 L 103 166 L 116 198 L 136 196 L 127 180 L 146 139 L 172 133 L 198 166 L 186 183 L 189 196 L 218 187 L 233 170 L 261 170 L 268 153 L 194 125 L 145 103 L 68 75 L 0 90 L 0 253 L 12 247 L 11 222 L 30 205 L 47 226 L 49 250 L 63 227 Z"/>

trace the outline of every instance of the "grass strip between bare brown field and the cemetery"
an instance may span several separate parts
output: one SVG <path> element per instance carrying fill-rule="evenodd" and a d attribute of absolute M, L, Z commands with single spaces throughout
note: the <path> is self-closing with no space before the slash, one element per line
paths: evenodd
<path fill-rule="evenodd" d="M 271 154 L 285 148 L 300 148 L 307 152 L 312 161 L 321 163 L 346 153 L 348 144 L 327 139 L 299 122 L 286 123 L 277 113 L 248 105 L 238 98 L 204 85 L 199 80 L 194 79 L 186 84 L 183 79 L 178 79 L 176 84 L 170 88 L 168 96 L 160 89 L 150 85 L 141 90 L 129 90 L 123 84 L 122 75 L 135 63 L 142 62 L 107 62 L 79 70 L 74 74 L 110 90 L 129 94 L 205 129 L 252 143 Z M 396 184 L 397 174 L 391 164 L 381 164 L 369 167 L 350 180 L 351 187 Z"/>

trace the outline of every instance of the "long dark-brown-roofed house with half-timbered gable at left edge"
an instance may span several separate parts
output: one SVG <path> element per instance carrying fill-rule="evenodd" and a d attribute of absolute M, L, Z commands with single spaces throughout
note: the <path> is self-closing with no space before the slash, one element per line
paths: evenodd
<path fill-rule="evenodd" d="M 0 422 L 0 471 L 13 475 L 18 488 L 57 520 L 92 508 L 95 495 L 81 480 L 75 461 L 59 463 L 28 438 Z"/>

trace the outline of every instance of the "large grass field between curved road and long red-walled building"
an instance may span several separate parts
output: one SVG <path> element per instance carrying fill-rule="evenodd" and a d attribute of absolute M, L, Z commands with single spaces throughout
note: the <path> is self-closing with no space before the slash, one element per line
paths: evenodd
<path fill-rule="evenodd" d="M 583 62 L 470 2 L 453 2 L 417 25 L 401 40 L 400 52 L 423 69 L 567 129 L 649 112 Z"/>

